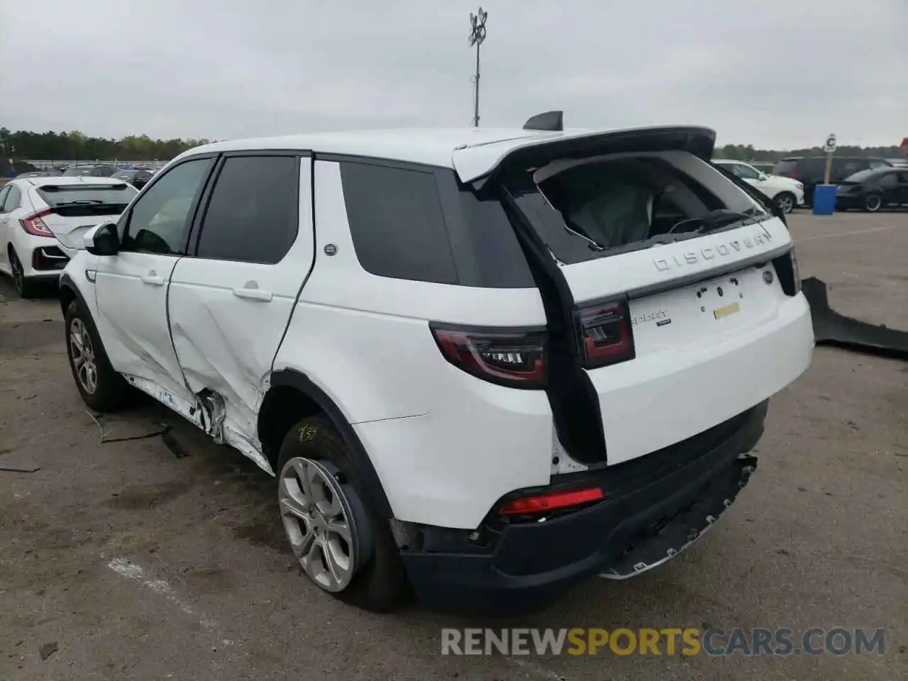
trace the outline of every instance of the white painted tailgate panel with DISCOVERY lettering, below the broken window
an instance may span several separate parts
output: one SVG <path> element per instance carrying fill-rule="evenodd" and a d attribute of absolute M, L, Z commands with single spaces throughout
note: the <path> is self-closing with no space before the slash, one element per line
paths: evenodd
<path fill-rule="evenodd" d="M 634 359 L 587 370 L 608 463 L 709 429 L 806 369 L 813 346 L 805 341 L 806 302 L 783 290 L 773 263 L 790 247 L 774 218 L 562 268 L 579 308 L 627 295 Z"/>

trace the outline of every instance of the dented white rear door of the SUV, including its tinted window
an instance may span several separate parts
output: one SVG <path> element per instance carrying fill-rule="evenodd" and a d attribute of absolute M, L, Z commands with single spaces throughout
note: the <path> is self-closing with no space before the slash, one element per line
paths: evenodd
<path fill-rule="evenodd" d="M 168 306 L 190 389 L 224 407 L 228 441 L 256 442 L 271 363 L 313 261 L 311 157 L 225 154 Z"/>

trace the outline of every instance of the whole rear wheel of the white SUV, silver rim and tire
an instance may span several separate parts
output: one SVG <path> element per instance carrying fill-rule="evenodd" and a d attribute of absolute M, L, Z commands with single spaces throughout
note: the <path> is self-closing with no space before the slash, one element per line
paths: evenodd
<path fill-rule="evenodd" d="M 331 421 L 318 415 L 293 426 L 278 470 L 281 522 L 306 576 L 363 610 L 400 605 L 407 580 L 388 519 L 370 502 Z"/>

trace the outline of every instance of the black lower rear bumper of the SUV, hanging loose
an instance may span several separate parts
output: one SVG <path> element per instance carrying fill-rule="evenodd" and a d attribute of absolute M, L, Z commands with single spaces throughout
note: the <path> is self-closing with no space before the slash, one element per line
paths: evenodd
<path fill-rule="evenodd" d="M 489 521 L 485 548 L 450 550 L 451 530 L 421 528 L 425 548 L 401 554 L 419 601 L 448 612 L 526 612 L 584 577 L 633 577 L 673 558 L 745 486 L 756 459 L 742 455 L 763 433 L 766 405 L 643 459 L 553 479 L 597 484 L 606 500 L 545 522 Z"/>

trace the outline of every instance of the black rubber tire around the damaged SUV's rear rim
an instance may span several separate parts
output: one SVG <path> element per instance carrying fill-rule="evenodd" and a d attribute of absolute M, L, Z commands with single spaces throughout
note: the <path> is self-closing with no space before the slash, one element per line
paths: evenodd
<path fill-rule="evenodd" d="M 349 584 L 340 591 L 316 584 L 344 603 L 370 612 L 388 612 L 400 606 L 408 596 L 407 577 L 388 519 L 382 517 L 371 501 L 370 490 L 363 484 L 350 450 L 326 416 L 319 414 L 302 419 L 284 437 L 278 455 L 279 479 L 285 467 L 293 465 L 291 460 L 298 459 L 315 461 L 325 469 L 336 470 L 335 479 L 352 488 L 368 518 L 368 528 L 364 529 L 370 532 L 370 557 L 354 568 L 355 574 Z M 307 574 L 307 577 L 310 576 Z"/>

